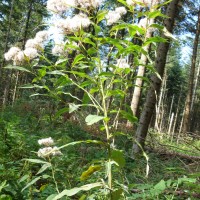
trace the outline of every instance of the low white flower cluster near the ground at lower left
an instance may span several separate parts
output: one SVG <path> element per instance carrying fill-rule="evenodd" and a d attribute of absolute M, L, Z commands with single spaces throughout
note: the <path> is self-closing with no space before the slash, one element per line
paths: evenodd
<path fill-rule="evenodd" d="M 39 149 L 39 151 L 37 152 L 38 157 L 47 158 L 49 156 L 62 155 L 58 147 L 51 147 L 54 144 L 54 141 L 51 137 L 38 140 L 38 144 L 46 146 L 44 148 Z"/>

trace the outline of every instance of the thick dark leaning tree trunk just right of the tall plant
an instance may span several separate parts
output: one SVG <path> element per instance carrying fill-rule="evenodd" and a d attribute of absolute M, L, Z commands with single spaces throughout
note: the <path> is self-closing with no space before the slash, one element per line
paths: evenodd
<path fill-rule="evenodd" d="M 168 16 L 168 18 L 164 20 L 164 26 L 169 32 L 173 31 L 175 16 L 178 12 L 178 3 L 179 3 L 179 0 L 173 0 L 169 3 L 167 7 L 166 15 Z M 164 34 L 162 34 L 162 37 L 169 40 L 169 38 L 165 36 Z M 168 41 L 166 43 L 160 43 L 157 48 L 155 68 L 161 78 L 163 78 L 169 46 L 170 46 L 170 42 Z M 136 131 L 136 135 L 135 135 L 136 143 L 133 144 L 132 156 L 133 154 L 137 154 L 141 151 L 140 145 L 141 147 L 144 147 L 149 123 L 152 117 L 152 113 L 155 109 L 156 100 L 160 91 L 161 80 L 156 74 L 152 75 L 151 82 L 152 83 L 148 90 L 146 102 L 143 108 L 143 112 L 140 116 L 139 125 Z"/>

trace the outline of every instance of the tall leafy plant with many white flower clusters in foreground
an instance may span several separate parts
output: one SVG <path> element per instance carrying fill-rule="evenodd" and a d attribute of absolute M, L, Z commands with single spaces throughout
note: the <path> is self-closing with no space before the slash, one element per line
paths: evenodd
<path fill-rule="evenodd" d="M 121 196 L 123 192 L 128 192 L 125 185 L 118 184 L 116 189 L 116 182 L 113 181 L 113 168 L 121 170 L 125 166 L 124 153 L 115 145 L 116 133 L 113 130 L 119 117 L 133 123 L 136 121 L 131 112 L 125 110 L 124 102 L 129 87 L 134 83 L 135 69 L 142 64 L 139 60 L 141 54 L 148 56 L 145 45 L 165 42 L 158 36 L 159 31 L 166 31 L 164 27 L 149 23 L 151 18 L 165 17 L 159 10 L 162 5 L 159 0 L 118 0 L 114 5 L 109 5 L 106 0 L 48 0 L 47 9 L 59 16 L 54 26 L 64 37 L 52 49 L 57 61 L 53 63 L 43 55 L 43 42 L 48 37 L 46 31 L 28 40 L 25 50 L 12 47 L 5 54 L 6 60 L 12 60 L 15 65 L 9 68 L 36 75 L 34 84 L 26 87 L 46 89 L 51 96 L 70 96 L 73 99 L 69 102 L 70 113 L 91 107 L 92 113 L 86 116 L 86 124 L 98 123 L 105 133 L 103 141 L 77 141 L 56 149 L 45 147 L 39 150 L 38 155 L 44 159 L 50 155 L 62 156 L 60 149 L 83 142 L 103 145 L 107 150 L 107 159 L 103 159 L 100 166 L 90 166 L 81 176 L 85 180 L 105 168 L 104 179 L 62 192 L 56 184 L 58 194 L 51 195 L 49 199 L 73 196 L 79 191 L 96 187 L 104 188 L 110 199 L 114 199 L 116 194 Z M 136 23 L 138 19 L 141 20 Z M 145 37 L 147 29 L 155 32 L 153 37 Z M 135 39 L 141 45 L 135 44 Z M 46 61 L 45 66 L 39 65 L 39 70 L 34 68 L 35 65 L 29 69 L 24 67 L 25 63 L 31 65 L 38 58 Z M 148 58 L 149 70 L 155 72 L 153 62 Z M 51 86 L 46 84 L 45 79 L 53 80 Z M 73 92 L 69 90 L 72 87 L 76 88 Z"/>

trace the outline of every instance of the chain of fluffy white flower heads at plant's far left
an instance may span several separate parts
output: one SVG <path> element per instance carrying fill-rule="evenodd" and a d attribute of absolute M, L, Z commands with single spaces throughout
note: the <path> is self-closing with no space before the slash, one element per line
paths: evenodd
<path fill-rule="evenodd" d="M 18 47 L 11 47 L 4 57 L 7 61 L 12 60 L 14 65 L 21 65 L 25 61 L 25 57 L 28 59 L 34 59 L 38 56 L 38 50 L 42 49 L 42 43 L 48 39 L 47 31 L 39 31 L 34 39 L 30 39 L 26 42 L 25 50 L 22 51 Z"/>

